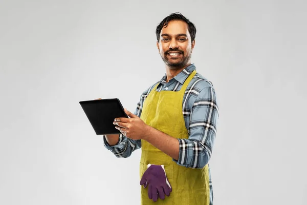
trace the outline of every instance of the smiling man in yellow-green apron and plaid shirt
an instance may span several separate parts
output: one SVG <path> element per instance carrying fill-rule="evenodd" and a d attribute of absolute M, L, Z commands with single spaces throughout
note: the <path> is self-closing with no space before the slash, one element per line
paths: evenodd
<path fill-rule="evenodd" d="M 213 204 L 208 161 L 218 106 L 212 83 L 191 64 L 195 26 L 173 13 L 157 26 L 166 74 L 141 95 L 135 113 L 116 118 L 120 135 L 104 136 L 117 157 L 142 148 L 142 204 Z M 166 195 L 166 196 L 165 196 Z"/>

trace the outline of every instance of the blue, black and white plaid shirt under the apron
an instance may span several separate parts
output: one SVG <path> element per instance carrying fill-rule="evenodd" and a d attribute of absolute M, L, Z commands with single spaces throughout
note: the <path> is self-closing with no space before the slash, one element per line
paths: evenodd
<path fill-rule="evenodd" d="M 196 67 L 193 64 L 188 66 L 170 79 L 168 83 L 166 83 L 166 75 L 164 75 L 160 81 L 153 84 L 141 95 L 134 114 L 141 116 L 144 100 L 157 84 L 159 84 L 158 92 L 161 90 L 179 91 L 185 79 L 195 69 Z M 180 136 L 176 136 L 179 140 L 179 159 L 173 159 L 173 161 L 180 166 L 201 169 L 207 165 L 211 157 L 219 117 L 216 94 L 212 83 L 196 73 L 185 91 L 182 105 L 189 138 L 181 139 Z M 129 157 L 133 151 L 141 148 L 141 140 L 129 139 L 120 134 L 119 141 L 114 146 L 109 146 L 104 137 L 104 146 L 117 157 Z M 209 181 L 210 204 L 213 204 L 210 168 Z"/>

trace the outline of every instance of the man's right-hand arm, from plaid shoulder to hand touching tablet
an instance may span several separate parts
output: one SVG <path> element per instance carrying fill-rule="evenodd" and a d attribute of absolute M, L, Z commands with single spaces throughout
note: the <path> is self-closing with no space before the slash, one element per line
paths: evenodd
<path fill-rule="evenodd" d="M 189 138 L 173 138 L 147 126 L 138 116 L 125 110 L 131 118 L 117 118 L 114 122 L 130 139 L 144 139 L 173 158 L 178 165 L 203 168 L 209 161 L 216 135 L 218 107 L 214 89 L 204 88 L 195 99 L 191 109 Z"/>

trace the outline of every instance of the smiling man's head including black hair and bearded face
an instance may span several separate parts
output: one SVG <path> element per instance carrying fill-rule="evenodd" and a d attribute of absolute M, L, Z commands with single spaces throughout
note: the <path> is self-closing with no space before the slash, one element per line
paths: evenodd
<path fill-rule="evenodd" d="M 181 13 L 172 13 L 157 26 L 157 48 L 170 69 L 190 64 L 195 45 L 196 28 Z"/>

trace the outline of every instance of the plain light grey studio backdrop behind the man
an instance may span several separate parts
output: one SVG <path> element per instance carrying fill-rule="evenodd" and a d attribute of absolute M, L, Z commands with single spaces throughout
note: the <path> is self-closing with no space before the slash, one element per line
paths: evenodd
<path fill-rule="evenodd" d="M 0 204 L 140 204 L 141 150 L 116 158 L 79 101 L 133 112 L 165 74 L 155 29 L 173 12 L 220 108 L 214 204 L 307 204 L 306 5 L 1 1 Z"/>

